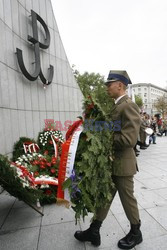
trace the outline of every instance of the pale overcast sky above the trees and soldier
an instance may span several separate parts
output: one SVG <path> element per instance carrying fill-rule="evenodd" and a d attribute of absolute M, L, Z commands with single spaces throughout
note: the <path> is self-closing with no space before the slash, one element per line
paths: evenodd
<path fill-rule="evenodd" d="M 167 0 L 51 0 L 70 65 L 167 87 Z"/>

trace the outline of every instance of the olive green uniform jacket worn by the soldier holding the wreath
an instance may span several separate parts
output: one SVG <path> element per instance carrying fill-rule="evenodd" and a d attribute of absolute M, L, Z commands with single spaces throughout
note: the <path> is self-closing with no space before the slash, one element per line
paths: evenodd
<path fill-rule="evenodd" d="M 114 161 L 112 174 L 117 176 L 132 176 L 136 173 L 137 162 L 134 146 L 137 142 L 141 118 L 138 106 L 125 95 L 112 112 L 114 124 Z M 117 131 L 118 130 L 118 131 Z"/>

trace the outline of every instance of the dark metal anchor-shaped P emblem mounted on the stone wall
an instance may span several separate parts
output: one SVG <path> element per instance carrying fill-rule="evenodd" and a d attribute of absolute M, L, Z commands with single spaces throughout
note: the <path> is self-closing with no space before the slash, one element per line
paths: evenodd
<path fill-rule="evenodd" d="M 54 67 L 50 65 L 48 69 L 48 79 L 45 78 L 45 76 L 42 73 L 41 70 L 41 61 L 40 61 L 40 48 L 41 49 L 47 49 L 49 48 L 50 45 L 50 32 L 49 29 L 44 22 L 44 20 L 33 10 L 31 10 L 31 18 L 32 18 L 32 30 L 33 30 L 33 37 L 28 35 L 28 41 L 31 42 L 34 46 L 34 54 L 35 54 L 35 70 L 32 74 L 30 74 L 24 64 L 23 61 L 23 54 L 22 50 L 19 48 L 16 48 L 16 54 L 17 54 L 17 59 L 18 59 L 18 64 L 19 67 L 23 73 L 23 75 L 30 81 L 35 81 L 38 76 L 40 77 L 41 81 L 49 85 L 52 82 L 53 79 L 53 74 L 54 74 Z M 41 43 L 38 39 L 38 26 L 37 26 L 37 21 L 40 22 L 42 27 L 44 28 L 45 31 L 45 41 L 44 43 Z"/>

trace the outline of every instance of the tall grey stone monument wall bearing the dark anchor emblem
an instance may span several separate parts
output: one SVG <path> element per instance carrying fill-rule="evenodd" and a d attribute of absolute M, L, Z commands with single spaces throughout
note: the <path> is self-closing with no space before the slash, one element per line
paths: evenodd
<path fill-rule="evenodd" d="M 0 153 L 37 138 L 45 119 L 74 121 L 82 94 L 67 59 L 51 0 L 0 0 Z"/>

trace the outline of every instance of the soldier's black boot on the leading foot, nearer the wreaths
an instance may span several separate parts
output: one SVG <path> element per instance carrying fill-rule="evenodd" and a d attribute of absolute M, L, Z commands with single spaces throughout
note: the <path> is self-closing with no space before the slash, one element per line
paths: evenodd
<path fill-rule="evenodd" d="M 100 246 L 101 238 L 100 238 L 100 227 L 101 221 L 93 221 L 90 227 L 85 231 L 76 231 L 74 237 L 82 242 L 90 241 L 94 246 Z"/>

